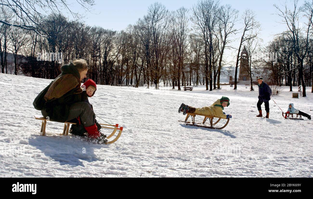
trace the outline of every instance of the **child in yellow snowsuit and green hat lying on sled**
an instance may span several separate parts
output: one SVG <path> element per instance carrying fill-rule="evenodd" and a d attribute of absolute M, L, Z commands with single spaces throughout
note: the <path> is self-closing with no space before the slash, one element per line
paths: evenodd
<path fill-rule="evenodd" d="M 185 105 L 182 103 L 180 105 L 178 112 L 183 112 L 183 115 L 186 115 L 187 112 L 189 113 L 196 113 L 201 115 L 208 115 L 208 116 L 214 116 L 214 117 L 222 117 L 224 119 L 232 118 L 232 115 L 226 115 L 223 110 L 224 107 L 229 106 L 229 98 L 228 97 L 221 97 L 220 99 L 216 100 L 211 106 L 209 107 L 203 107 L 203 108 L 195 108 L 190 107 L 188 105 Z"/>

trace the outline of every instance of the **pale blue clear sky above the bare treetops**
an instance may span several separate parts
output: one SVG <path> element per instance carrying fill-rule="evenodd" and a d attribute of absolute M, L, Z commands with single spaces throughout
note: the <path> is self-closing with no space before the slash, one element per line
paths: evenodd
<path fill-rule="evenodd" d="M 69 0 L 69 2 L 75 2 Z M 169 11 L 177 10 L 180 7 L 192 8 L 197 3 L 196 0 L 95 0 L 95 6 L 91 12 L 83 12 L 86 17 L 84 21 L 91 26 L 101 26 L 105 29 L 113 29 L 120 31 L 125 29 L 129 24 L 135 24 L 138 18 L 143 17 L 147 13 L 147 8 L 154 2 L 162 3 Z M 252 9 L 257 20 L 261 23 L 262 30 L 260 37 L 264 43 L 269 42 L 273 36 L 286 29 L 285 25 L 280 24 L 281 19 L 276 15 L 274 4 L 280 5 L 285 1 L 279 0 L 262 0 L 262 1 L 242 1 L 242 0 L 221 0 L 221 5 L 230 4 L 233 8 L 239 10 L 242 15 L 245 9 Z M 299 5 L 304 1 L 299 1 Z M 290 0 L 287 0 L 290 4 Z M 73 4 L 75 9 L 79 9 L 79 5 Z M 303 21 L 303 24 L 305 21 Z M 238 24 L 240 25 L 240 24 Z"/>

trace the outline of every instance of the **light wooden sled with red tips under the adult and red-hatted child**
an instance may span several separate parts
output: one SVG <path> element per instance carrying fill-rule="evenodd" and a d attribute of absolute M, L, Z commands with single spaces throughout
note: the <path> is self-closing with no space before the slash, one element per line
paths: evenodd
<path fill-rule="evenodd" d="M 47 124 L 47 121 L 49 122 L 57 122 L 57 121 L 53 121 L 53 120 L 48 120 L 47 118 L 44 118 L 44 117 L 36 117 L 34 116 L 36 120 L 41 120 L 42 123 L 41 123 L 41 130 L 40 130 L 40 135 L 42 136 L 45 136 L 46 135 L 46 124 Z M 61 122 L 60 122 L 61 123 Z M 73 123 L 73 122 L 64 122 L 64 128 L 63 128 L 63 133 L 60 134 L 60 135 L 64 135 L 64 136 L 68 136 L 69 135 L 69 125 L 70 124 L 76 124 L 76 123 Z M 107 139 L 111 138 L 112 136 L 114 136 L 115 132 L 117 130 L 119 130 L 119 133 L 117 134 L 117 136 L 110 142 L 106 142 L 105 144 L 112 144 L 114 142 L 116 142 L 120 137 L 121 137 L 121 134 L 122 134 L 122 131 L 123 131 L 123 127 L 118 127 L 119 125 L 118 124 L 115 124 L 115 125 L 111 125 L 111 124 L 100 124 L 102 128 L 106 128 L 106 129 L 113 129 L 113 132 L 107 136 Z"/>

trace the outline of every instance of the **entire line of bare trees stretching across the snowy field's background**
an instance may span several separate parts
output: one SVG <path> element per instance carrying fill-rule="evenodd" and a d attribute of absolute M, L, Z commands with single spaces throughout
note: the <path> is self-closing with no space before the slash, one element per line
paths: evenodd
<path fill-rule="evenodd" d="M 35 17 L 37 11 L 27 16 L 8 7 L 2 5 L 0 13 L 4 18 L 0 21 L 2 72 L 8 72 L 7 55 L 12 52 L 15 74 L 53 79 L 62 63 L 49 59 L 38 61 L 38 53 L 62 53 L 63 63 L 74 58 L 86 59 L 90 66 L 88 75 L 98 84 L 125 83 L 138 87 L 144 83 L 163 83 L 177 86 L 178 90 L 194 84 L 213 90 L 220 89 L 221 77 L 227 77 L 233 68 L 236 89 L 240 52 L 246 46 L 251 81 L 262 72 L 269 72 L 268 79 L 273 83 L 290 87 L 295 85 L 295 80 L 303 86 L 310 86 L 313 80 L 312 2 L 305 2 L 297 10 L 295 0 L 294 11 L 276 6 L 288 30 L 263 50 L 278 52 L 277 63 L 253 60 L 261 48 L 261 27 L 254 12 L 247 9 L 239 15 L 238 10 L 221 5 L 218 0 L 201 0 L 191 9 L 181 7 L 172 12 L 161 3 L 154 3 L 146 15 L 119 32 L 69 20 L 56 10 L 40 15 L 39 23 Z M 301 14 L 308 23 L 300 28 L 296 23 Z M 28 19 L 27 24 L 21 23 L 23 17 Z M 234 41 L 238 41 L 237 47 L 233 46 Z M 231 61 L 227 61 L 229 56 L 225 53 L 229 51 L 236 54 Z"/>

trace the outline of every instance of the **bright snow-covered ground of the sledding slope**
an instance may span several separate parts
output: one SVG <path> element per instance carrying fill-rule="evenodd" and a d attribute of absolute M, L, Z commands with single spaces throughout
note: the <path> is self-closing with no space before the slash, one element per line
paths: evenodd
<path fill-rule="evenodd" d="M 255 117 L 257 86 L 209 92 L 98 85 L 90 99 L 95 113 L 124 127 L 117 142 L 98 145 L 57 135 L 63 124 L 56 122 L 47 123 L 49 136 L 39 136 L 32 103 L 49 82 L 0 73 L 0 177 L 312 177 L 313 121 L 285 120 L 272 100 L 270 118 Z M 224 129 L 178 122 L 182 102 L 203 107 L 221 96 L 230 98 L 225 112 L 233 116 Z M 291 96 L 284 87 L 273 99 L 283 111 L 293 102 L 313 116 L 310 87 L 307 97 Z"/>

